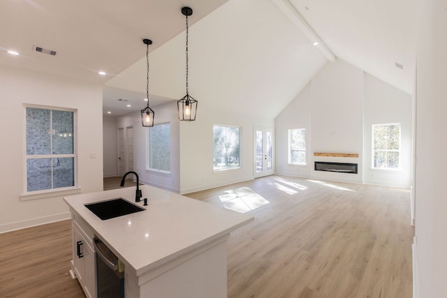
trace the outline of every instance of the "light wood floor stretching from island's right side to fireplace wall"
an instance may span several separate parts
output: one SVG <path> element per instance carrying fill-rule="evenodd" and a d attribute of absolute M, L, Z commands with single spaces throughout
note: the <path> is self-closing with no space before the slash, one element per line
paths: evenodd
<path fill-rule="evenodd" d="M 187 196 L 239 188 L 268 204 L 230 237 L 228 297 L 412 296 L 408 190 L 270 176 Z"/>

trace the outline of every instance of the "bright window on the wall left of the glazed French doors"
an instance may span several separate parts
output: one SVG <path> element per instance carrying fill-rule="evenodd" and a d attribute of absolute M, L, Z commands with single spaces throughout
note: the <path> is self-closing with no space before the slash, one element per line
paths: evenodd
<path fill-rule="evenodd" d="M 213 127 L 214 170 L 240 167 L 240 128 L 233 126 Z"/>

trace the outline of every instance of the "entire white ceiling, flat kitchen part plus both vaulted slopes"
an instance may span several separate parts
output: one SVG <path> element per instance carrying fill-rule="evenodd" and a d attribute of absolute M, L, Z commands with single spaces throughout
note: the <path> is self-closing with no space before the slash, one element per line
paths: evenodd
<path fill-rule="evenodd" d="M 150 38 L 156 106 L 184 95 L 179 10 L 191 6 L 191 94 L 217 108 L 236 103 L 274 115 L 330 63 L 328 52 L 411 94 L 415 1 L 2 0 L 0 64 L 103 84 L 104 110 L 125 114 L 131 110 L 124 103 L 145 105 L 142 38 Z"/>

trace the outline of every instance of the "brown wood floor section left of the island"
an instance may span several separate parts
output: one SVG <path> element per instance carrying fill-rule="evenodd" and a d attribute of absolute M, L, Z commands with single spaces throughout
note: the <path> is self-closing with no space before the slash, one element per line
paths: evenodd
<path fill-rule="evenodd" d="M 0 234 L 0 297 L 85 297 L 70 261 L 70 220 Z"/>

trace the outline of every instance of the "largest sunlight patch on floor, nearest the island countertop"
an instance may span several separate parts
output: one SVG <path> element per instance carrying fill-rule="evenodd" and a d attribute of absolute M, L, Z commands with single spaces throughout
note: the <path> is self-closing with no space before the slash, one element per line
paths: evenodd
<path fill-rule="evenodd" d="M 254 210 L 270 203 L 261 195 L 252 191 L 249 187 L 232 189 L 225 193 L 225 195 L 219 195 L 223 207 L 241 213 Z"/>

